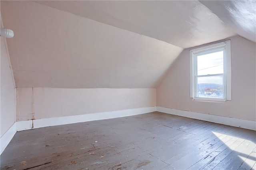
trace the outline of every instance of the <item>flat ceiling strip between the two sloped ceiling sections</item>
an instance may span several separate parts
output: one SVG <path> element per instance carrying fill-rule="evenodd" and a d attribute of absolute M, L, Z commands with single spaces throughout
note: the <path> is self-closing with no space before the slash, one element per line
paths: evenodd
<path fill-rule="evenodd" d="M 35 2 L 182 48 L 235 35 L 197 0 Z"/>

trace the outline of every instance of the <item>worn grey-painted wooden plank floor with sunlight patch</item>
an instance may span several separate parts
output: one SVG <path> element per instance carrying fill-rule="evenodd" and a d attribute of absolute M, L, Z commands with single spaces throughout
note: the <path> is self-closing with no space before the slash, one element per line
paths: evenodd
<path fill-rule="evenodd" d="M 256 132 L 153 112 L 17 132 L 3 170 L 256 169 Z"/>

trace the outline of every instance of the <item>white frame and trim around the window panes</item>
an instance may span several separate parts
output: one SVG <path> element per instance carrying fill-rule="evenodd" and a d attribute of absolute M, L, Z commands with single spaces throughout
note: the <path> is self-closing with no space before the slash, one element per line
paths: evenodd
<path fill-rule="evenodd" d="M 227 101 L 231 100 L 231 47 L 230 47 L 230 40 L 224 41 L 221 43 L 216 43 L 212 45 L 207 45 L 204 47 L 191 49 L 190 50 L 190 98 L 194 100 L 209 100 L 209 101 Z M 198 98 L 195 96 L 196 90 L 196 82 L 195 82 L 195 74 L 196 74 L 196 55 L 198 53 L 207 53 L 210 51 L 214 51 L 217 49 L 224 49 L 223 54 L 223 66 L 224 66 L 224 78 L 223 78 L 223 85 L 224 85 L 224 99 L 220 98 Z M 213 76 L 213 75 L 211 75 Z"/>

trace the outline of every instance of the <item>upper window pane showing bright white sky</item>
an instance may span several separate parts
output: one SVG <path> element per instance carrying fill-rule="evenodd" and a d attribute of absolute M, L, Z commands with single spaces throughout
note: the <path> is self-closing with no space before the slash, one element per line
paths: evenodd
<path fill-rule="evenodd" d="M 196 55 L 197 75 L 222 74 L 223 69 L 223 51 Z"/>

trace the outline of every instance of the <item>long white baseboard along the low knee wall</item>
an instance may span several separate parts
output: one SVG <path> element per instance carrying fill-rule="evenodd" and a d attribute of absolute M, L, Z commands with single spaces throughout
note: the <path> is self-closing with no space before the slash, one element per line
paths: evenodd
<path fill-rule="evenodd" d="M 137 108 L 137 109 L 127 109 L 127 110 L 120 110 L 120 111 L 108 111 L 108 112 L 102 112 L 102 113 L 91 113 L 91 114 L 85 114 L 85 115 L 74 115 L 74 116 L 54 117 L 54 118 L 47 118 L 47 119 L 17 121 L 16 130 L 22 131 L 26 129 L 35 129 L 40 127 L 66 125 L 66 124 L 102 120 L 102 119 L 112 119 L 116 117 L 125 117 L 125 116 L 139 115 L 143 113 L 150 113 L 153 111 L 156 111 L 156 106 L 143 107 L 143 108 Z"/>

